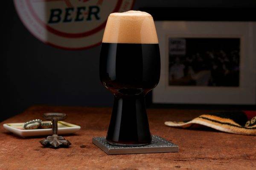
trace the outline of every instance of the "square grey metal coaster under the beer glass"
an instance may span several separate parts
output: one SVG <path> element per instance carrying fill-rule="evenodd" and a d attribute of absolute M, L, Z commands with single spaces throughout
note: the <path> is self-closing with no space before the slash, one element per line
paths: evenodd
<path fill-rule="evenodd" d="M 115 146 L 108 144 L 106 137 L 93 137 L 93 144 L 108 155 L 134 154 L 134 153 L 163 153 L 178 152 L 179 147 L 160 136 L 152 135 L 151 144 L 144 146 Z"/>

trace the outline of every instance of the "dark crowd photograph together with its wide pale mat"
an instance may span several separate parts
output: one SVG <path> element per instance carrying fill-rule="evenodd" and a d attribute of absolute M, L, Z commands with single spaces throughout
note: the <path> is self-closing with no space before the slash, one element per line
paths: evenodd
<path fill-rule="evenodd" d="M 211 21 L 207 16 L 167 20 L 166 15 L 162 20 L 154 14 L 161 77 L 152 93 L 153 103 L 256 104 L 255 21 L 218 20 L 221 12 L 210 15 Z M 194 15 L 201 16 L 198 11 Z"/>

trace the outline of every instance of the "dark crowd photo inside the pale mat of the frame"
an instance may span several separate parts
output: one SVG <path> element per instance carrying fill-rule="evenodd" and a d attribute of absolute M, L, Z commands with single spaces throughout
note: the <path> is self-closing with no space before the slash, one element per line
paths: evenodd
<path fill-rule="evenodd" d="M 239 87 L 240 38 L 168 38 L 169 85 Z"/>

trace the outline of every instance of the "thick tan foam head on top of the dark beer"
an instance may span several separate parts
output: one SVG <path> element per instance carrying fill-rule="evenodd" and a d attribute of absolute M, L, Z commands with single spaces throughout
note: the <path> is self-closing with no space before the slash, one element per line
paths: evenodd
<path fill-rule="evenodd" d="M 157 44 L 153 17 L 142 11 L 112 13 L 108 17 L 102 42 Z"/>

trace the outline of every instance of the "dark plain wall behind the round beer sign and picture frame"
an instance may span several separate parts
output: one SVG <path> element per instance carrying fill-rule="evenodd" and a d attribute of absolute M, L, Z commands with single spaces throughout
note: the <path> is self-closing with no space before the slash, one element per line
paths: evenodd
<path fill-rule="evenodd" d="M 99 81 L 99 46 L 66 51 L 45 45 L 23 26 L 12 0 L 5 3 L 1 23 L 4 30 L 1 55 L 4 81 L 0 120 L 38 104 L 112 105 L 112 94 Z M 134 10 L 140 7 L 250 8 L 256 7 L 256 1 L 137 0 Z M 169 15 L 177 14 L 170 11 Z"/>

